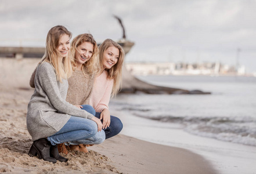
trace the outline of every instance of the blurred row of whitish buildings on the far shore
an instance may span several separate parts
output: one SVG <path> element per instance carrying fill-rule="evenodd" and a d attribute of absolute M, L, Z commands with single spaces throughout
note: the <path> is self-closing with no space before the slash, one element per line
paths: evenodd
<path fill-rule="evenodd" d="M 245 75 L 246 69 L 216 63 L 125 63 L 133 75 Z"/>

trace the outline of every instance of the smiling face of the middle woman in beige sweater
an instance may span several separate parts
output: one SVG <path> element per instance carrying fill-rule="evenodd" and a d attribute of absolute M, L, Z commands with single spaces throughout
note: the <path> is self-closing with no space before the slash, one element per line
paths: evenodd
<path fill-rule="evenodd" d="M 81 45 L 77 46 L 75 50 L 75 60 L 77 60 L 77 65 L 84 64 L 92 57 L 93 44 L 91 42 L 83 42 Z"/>

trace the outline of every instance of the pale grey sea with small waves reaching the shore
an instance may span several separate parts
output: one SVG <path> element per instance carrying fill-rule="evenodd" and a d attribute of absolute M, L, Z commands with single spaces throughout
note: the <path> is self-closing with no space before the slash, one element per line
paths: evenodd
<path fill-rule="evenodd" d="M 256 146 L 256 77 L 138 76 L 154 85 L 209 95 L 119 94 L 110 107 L 125 115 L 178 124 L 190 134 Z"/>

